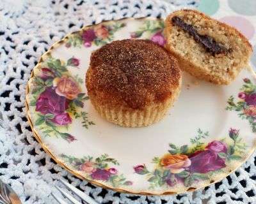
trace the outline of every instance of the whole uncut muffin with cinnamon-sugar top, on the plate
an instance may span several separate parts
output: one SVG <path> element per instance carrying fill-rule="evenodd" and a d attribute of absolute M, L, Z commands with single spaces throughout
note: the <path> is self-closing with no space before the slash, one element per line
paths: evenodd
<path fill-rule="evenodd" d="M 150 40 L 113 41 L 92 53 L 86 88 L 101 117 L 124 127 L 163 119 L 179 95 L 178 62 Z"/>

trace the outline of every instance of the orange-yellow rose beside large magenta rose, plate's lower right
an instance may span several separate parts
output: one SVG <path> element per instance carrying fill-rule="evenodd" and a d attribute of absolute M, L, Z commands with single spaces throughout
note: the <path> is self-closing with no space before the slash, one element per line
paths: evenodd
<path fill-rule="evenodd" d="M 170 170 L 172 173 L 180 173 L 184 171 L 184 167 L 190 166 L 191 161 L 184 154 L 166 154 L 161 159 L 161 165 L 165 170 Z"/>

